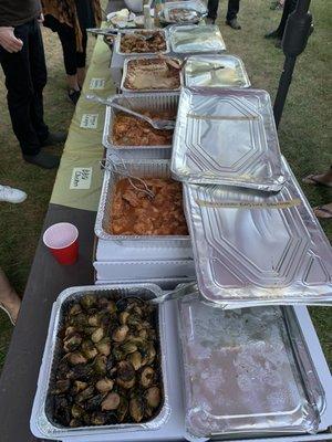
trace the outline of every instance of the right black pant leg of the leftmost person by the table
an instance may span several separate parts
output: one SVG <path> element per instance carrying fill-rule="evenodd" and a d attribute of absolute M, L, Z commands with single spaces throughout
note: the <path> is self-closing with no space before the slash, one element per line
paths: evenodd
<path fill-rule="evenodd" d="M 48 71 L 43 40 L 37 20 L 31 23 L 29 35 L 29 57 L 33 85 L 33 98 L 30 107 L 31 120 L 40 141 L 44 141 L 49 136 L 49 127 L 44 123 L 43 107 L 43 88 L 48 82 Z"/>

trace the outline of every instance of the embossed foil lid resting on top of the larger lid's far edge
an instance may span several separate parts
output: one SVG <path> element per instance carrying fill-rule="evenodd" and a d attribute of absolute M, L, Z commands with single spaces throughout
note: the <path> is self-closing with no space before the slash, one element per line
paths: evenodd
<path fill-rule="evenodd" d="M 170 168 L 181 181 L 280 190 L 284 177 L 269 94 L 184 88 Z"/>

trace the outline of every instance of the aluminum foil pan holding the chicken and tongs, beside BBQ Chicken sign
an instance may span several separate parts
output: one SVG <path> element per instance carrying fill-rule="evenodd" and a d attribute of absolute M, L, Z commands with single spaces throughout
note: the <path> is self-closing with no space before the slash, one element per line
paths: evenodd
<path fill-rule="evenodd" d="M 123 161 L 127 172 L 137 178 L 170 178 L 169 161 L 146 160 L 146 161 Z M 189 235 L 116 235 L 108 233 L 107 225 L 111 221 L 112 202 L 116 182 L 125 176 L 114 171 L 105 170 L 104 182 L 101 193 L 98 211 L 95 221 L 94 232 L 102 240 L 118 241 L 125 246 L 173 246 L 189 248 Z"/>

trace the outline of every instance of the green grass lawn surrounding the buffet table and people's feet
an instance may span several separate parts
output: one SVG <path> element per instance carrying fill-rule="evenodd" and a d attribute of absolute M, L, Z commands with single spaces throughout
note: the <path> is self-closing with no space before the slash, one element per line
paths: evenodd
<path fill-rule="evenodd" d="M 224 24 L 226 0 L 220 1 L 220 28 L 228 51 L 239 55 L 247 67 L 252 86 L 267 90 L 272 99 L 278 87 L 283 54 L 264 40 L 263 34 L 274 29 L 281 12 L 271 11 L 268 0 L 241 0 L 239 20 L 241 31 Z M 331 29 L 332 2 L 312 1 L 315 31 L 305 53 L 300 56 L 293 75 L 279 137 L 282 154 L 289 160 L 298 179 L 323 171 L 332 164 L 331 151 Z M 62 54 L 56 35 L 44 30 L 44 45 L 49 67 L 45 88 L 45 120 L 52 129 L 69 127 L 73 106 L 65 96 Z M 93 45 L 93 40 L 91 46 Z M 6 106 L 3 75 L 0 73 L 0 182 L 25 190 L 28 200 L 18 206 L 0 203 L 0 265 L 13 286 L 23 294 L 29 270 L 55 178 L 54 171 L 44 171 L 21 160 L 12 134 Z M 303 185 L 312 206 L 332 201 L 329 189 Z M 332 239 L 332 221 L 322 222 Z M 310 308 L 323 350 L 332 366 L 332 309 Z M 11 335 L 7 316 L 0 313 L 0 369 Z"/>

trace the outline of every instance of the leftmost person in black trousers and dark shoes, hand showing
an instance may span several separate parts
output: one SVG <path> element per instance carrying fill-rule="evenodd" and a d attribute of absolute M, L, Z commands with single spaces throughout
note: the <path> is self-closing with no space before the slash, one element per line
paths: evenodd
<path fill-rule="evenodd" d="M 52 169 L 59 166 L 59 158 L 41 148 L 63 143 L 65 135 L 50 133 L 44 123 L 46 66 L 38 20 L 41 20 L 39 0 L 0 1 L 0 63 L 12 128 L 23 159 Z"/>

